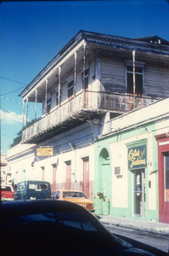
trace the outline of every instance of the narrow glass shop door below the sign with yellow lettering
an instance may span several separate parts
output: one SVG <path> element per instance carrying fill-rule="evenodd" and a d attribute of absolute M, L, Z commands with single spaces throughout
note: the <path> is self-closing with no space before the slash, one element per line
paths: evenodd
<path fill-rule="evenodd" d="M 146 214 L 145 172 L 133 171 L 133 215 L 144 218 Z"/>

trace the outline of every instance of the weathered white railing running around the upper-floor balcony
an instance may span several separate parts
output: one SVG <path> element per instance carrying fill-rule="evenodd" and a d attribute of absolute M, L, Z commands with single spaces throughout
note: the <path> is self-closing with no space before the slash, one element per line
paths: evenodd
<path fill-rule="evenodd" d="M 38 120 L 34 125 L 27 127 L 22 132 L 22 141 L 32 141 L 33 137 L 40 136 L 50 132 L 51 129 L 58 125 L 72 123 L 79 118 L 79 114 L 84 113 L 104 113 L 111 111 L 115 113 L 127 113 L 135 108 L 142 108 L 155 102 L 157 99 L 150 97 L 134 97 L 121 94 L 112 94 L 106 92 L 85 91 L 62 104 L 59 108 L 55 108 L 42 119 Z"/>

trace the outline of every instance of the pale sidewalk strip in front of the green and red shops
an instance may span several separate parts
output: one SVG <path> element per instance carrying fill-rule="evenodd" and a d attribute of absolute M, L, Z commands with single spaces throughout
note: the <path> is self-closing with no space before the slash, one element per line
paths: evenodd
<path fill-rule="evenodd" d="M 169 224 L 157 222 L 155 220 L 143 220 L 139 218 L 123 218 L 115 216 L 99 215 L 99 221 L 105 224 L 124 227 L 132 230 L 143 230 L 156 234 L 169 235 Z"/>

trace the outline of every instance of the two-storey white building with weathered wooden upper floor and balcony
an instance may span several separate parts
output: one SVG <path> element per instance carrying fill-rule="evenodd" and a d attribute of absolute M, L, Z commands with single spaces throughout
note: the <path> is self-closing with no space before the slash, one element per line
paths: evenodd
<path fill-rule="evenodd" d="M 104 123 L 166 97 L 168 56 L 169 42 L 157 36 L 131 39 L 78 32 L 20 93 L 26 116 L 22 144 L 15 148 L 17 156 L 13 148 L 8 153 L 11 170 L 25 170 L 25 177 L 17 179 L 46 179 L 52 189 L 82 189 L 93 199 L 94 143 L 105 134 Z M 32 102 L 35 123 L 28 127 Z M 20 147 L 29 143 L 34 146 L 23 154 Z M 36 148 L 44 146 L 53 147 L 54 156 L 37 157 Z"/>

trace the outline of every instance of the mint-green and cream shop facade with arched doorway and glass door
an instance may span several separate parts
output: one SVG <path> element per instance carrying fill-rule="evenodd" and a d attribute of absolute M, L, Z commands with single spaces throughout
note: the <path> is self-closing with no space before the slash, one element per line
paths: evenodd
<path fill-rule="evenodd" d="M 94 193 L 110 201 L 110 215 L 158 221 L 155 134 L 151 122 L 110 132 L 95 143 Z"/>

